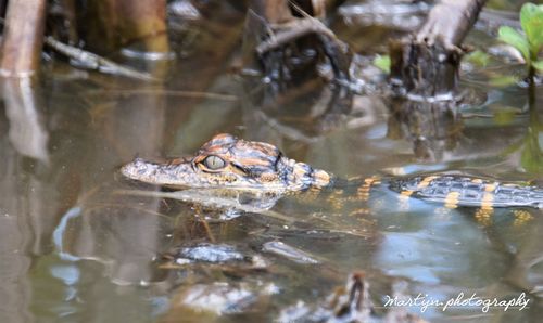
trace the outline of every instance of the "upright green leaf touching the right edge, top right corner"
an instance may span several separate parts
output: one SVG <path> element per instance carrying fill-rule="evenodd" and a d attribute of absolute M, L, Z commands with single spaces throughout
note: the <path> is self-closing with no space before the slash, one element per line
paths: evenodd
<path fill-rule="evenodd" d="M 530 44 L 531 59 L 535 59 L 543 46 L 543 5 L 525 3 L 520 9 L 520 25 Z"/>

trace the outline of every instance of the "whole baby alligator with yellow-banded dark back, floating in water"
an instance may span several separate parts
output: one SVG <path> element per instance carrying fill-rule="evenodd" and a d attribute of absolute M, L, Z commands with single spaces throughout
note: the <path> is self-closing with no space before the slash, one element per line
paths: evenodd
<path fill-rule="evenodd" d="M 435 173 L 380 180 L 346 181 L 287 158 L 274 145 L 217 134 L 189 158 L 151 163 L 141 158 L 125 165 L 122 173 L 134 180 L 171 188 L 223 188 L 288 193 L 350 188 L 361 198 L 374 184 L 387 183 L 403 197 L 442 203 L 447 207 L 543 207 L 543 189 L 492 179 Z"/>

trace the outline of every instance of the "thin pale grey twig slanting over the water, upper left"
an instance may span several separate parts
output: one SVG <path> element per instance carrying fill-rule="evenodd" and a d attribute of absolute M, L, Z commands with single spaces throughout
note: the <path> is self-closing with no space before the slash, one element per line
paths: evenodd
<path fill-rule="evenodd" d="M 63 42 L 58 41 L 51 36 L 46 37 L 45 42 L 46 44 L 48 44 L 55 51 L 62 53 L 63 55 L 66 55 L 72 60 L 84 63 L 85 66 L 87 66 L 90 69 L 97 69 L 104 73 L 116 74 L 146 81 L 156 80 L 156 78 L 152 77 L 150 74 L 119 65 L 113 61 L 99 56 L 94 53 L 78 49 L 70 44 L 65 44 Z"/>

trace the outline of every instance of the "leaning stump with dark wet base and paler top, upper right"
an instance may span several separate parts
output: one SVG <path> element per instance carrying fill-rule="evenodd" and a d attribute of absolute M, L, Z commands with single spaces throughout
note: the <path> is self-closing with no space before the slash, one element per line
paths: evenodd
<path fill-rule="evenodd" d="M 451 93 L 458 81 L 462 42 L 485 0 L 442 0 L 425 25 L 406 39 L 392 41 L 391 83 L 425 96 Z"/>

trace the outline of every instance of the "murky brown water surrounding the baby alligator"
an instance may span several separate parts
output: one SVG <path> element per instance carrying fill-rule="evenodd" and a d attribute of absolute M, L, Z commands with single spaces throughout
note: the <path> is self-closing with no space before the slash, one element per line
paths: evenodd
<path fill-rule="evenodd" d="M 117 172 L 135 155 L 192 154 L 220 132 L 276 144 L 344 178 L 454 170 L 542 179 L 541 87 L 530 108 L 526 88 L 493 85 L 521 75 L 521 66 L 496 56 L 487 66 L 465 64 L 469 104 L 445 117 L 422 107 L 394 113 L 378 92 L 367 94 L 367 85 L 361 93 L 316 83 L 274 96 L 232 72 L 243 16 L 227 16 L 205 22 L 224 30 L 220 51 L 193 43 L 188 51 L 180 41 L 182 59 L 150 67 L 175 70 L 164 85 L 62 63 L 47 66 L 41 82 L 2 85 L 0 322 L 273 321 L 294 318 L 285 314 L 288 307 L 324 307 L 352 272 L 364 272 L 375 318 L 390 311 L 384 303 L 394 294 L 446 301 L 463 293 L 466 299 L 525 295 L 529 303 L 488 312 L 480 306 L 404 309 L 437 322 L 536 321 L 543 218 L 535 209 L 485 217 L 376 188 L 367 202 L 344 205 L 333 204 L 333 193 L 318 201 L 286 196 L 272 208 L 279 219 L 121 194 L 141 189 Z M 341 21 L 334 26 L 364 54 L 356 60 L 365 70 L 368 57 L 383 52 L 382 35 L 401 33 Z M 365 38 L 346 26 L 380 36 Z M 496 46 L 481 28 L 468 43 Z M 202 30 L 195 37 L 210 33 Z M 269 242 L 305 251 L 311 261 L 267 251 Z M 167 256 L 202 243 L 231 246 L 243 260 L 185 263 Z"/>

